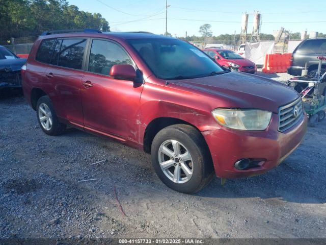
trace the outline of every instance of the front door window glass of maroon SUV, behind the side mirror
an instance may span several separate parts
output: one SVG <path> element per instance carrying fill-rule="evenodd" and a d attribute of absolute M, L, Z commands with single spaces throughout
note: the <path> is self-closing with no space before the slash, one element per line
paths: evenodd
<path fill-rule="evenodd" d="M 89 71 L 109 75 L 111 67 L 118 64 L 133 65 L 133 62 L 118 44 L 104 40 L 93 40 Z"/>

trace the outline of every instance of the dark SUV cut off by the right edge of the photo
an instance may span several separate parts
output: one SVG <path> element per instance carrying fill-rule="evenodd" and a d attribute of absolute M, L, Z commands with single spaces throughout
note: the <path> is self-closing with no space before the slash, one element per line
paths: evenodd
<path fill-rule="evenodd" d="M 326 38 L 306 39 L 302 41 L 293 51 L 291 66 L 287 73 L 293 76 L 300 76 L 301 71 L 307 63 L 308 75 L 313 77 L 318 68 L 318 56 L 326 52 Z M 326 61 L 323 61 L 321 73 L 325 72 Z"/>

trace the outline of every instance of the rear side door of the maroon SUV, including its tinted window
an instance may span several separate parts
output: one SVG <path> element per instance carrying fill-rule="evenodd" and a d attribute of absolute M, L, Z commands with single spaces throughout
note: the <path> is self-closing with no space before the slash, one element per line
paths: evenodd
<path fill-rule="evenodd" d="M 84 124 L 80 87 L 87 42 L 83 37 L 58 39 L 45 72 L 53 87 L 50 97 L 58 116 L 79 127 Z"/>

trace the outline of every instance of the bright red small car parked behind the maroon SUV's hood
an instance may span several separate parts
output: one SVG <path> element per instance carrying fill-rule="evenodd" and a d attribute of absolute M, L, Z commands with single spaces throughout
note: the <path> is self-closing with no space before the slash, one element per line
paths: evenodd
<path fill-rule="evenodd" d="M 242 72 L 255 74 L 257 67 L 254 62 L 241 57 L 239 54 L 232 50 L 224 50 L 221 48 L 205 48 L 204 52 L 220 65 Z"/>

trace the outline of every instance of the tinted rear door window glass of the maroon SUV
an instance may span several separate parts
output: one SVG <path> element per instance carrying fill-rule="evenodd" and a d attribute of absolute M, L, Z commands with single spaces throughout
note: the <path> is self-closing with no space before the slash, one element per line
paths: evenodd
<path fill-rule="evenodd" d="M 86 39 L 63 39 L 59 54 L 59 66 L 82 69 Z"/>

